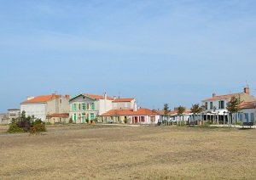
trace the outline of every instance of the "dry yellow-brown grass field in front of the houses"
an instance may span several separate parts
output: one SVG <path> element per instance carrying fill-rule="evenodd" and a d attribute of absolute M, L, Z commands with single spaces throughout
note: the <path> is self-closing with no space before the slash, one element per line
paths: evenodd
<path fill-rule="evenodd" d="M 0 127 L 0 179 L 255 179 L 256 130 L 49 126 L 42 135 Z"/>

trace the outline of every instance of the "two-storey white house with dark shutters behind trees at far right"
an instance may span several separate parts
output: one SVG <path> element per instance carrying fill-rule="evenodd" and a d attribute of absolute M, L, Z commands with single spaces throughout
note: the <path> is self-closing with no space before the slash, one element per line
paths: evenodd
<path fill-rule="evenodd" d="M 212 93 L 211 98 L 204 99 L 202 103 L 205 105 L 203 120 L 217 121 L 217 123 L 225 123 L 229 121 L 227 103 L 232 97 L 239 99 L 241 103 L 253 102 L 256 100 L 250 95 L 250 88 L 245 87 L 242 93 L 230 93 L 224 95 L 216 95 Z"/>

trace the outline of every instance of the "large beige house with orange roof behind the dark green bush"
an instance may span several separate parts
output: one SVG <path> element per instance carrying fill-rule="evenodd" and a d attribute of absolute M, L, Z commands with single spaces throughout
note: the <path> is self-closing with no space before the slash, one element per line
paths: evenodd
<path fill-rule="evenodd" d="M 26 116 L 34 115 L 42 121 L 47 121 L 47 115 L 68 113 L 69 95 L 41 95 L 29 97 L 20 104 L 20 111 L 25 111 Z"/>

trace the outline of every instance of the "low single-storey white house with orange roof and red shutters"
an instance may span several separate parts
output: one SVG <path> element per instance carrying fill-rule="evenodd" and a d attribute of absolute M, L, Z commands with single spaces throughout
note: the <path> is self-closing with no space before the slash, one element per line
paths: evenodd
<path fill-rule="evenodd" d="M 160 115 L 154 110 L 137 109 L 113 109 L 100 115 L 100 121 L 104 123 L 128 123 L 128 124 L 157 124 Z"/>

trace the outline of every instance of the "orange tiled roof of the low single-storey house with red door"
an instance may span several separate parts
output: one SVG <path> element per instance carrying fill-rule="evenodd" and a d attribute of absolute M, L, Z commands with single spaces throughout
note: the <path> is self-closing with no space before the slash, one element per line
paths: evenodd
<path fill-rule="evenodd" d="M 102 116 L 116 116 L 116 115 L 158 115 L 158 113 L 153 110 L 139 109 L 134 110 L 109 110 L 107 113 L 102 114 Z"/>

